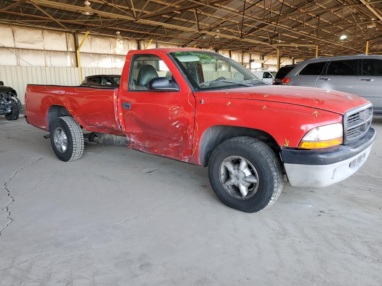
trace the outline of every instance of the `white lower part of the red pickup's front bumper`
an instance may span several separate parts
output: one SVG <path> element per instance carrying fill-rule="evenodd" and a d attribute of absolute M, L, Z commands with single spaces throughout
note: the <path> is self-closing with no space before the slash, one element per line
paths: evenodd
<path fill-rule="evenodd" d="M 325 187 L 353 175 L 369 156 L 368 148 L 356 156 L 329 165 L 284 164 L 286 176 L 295 187 Z"/>

